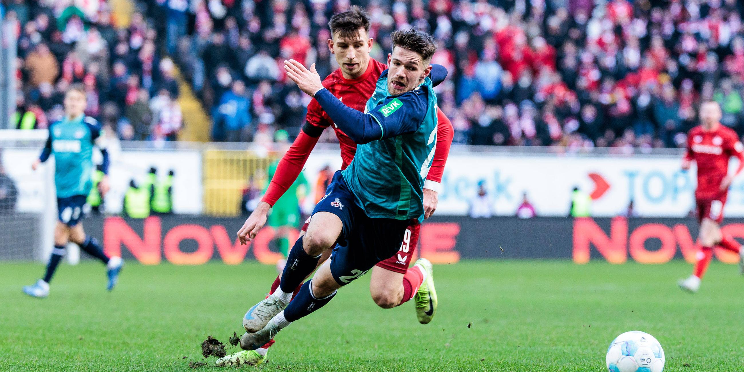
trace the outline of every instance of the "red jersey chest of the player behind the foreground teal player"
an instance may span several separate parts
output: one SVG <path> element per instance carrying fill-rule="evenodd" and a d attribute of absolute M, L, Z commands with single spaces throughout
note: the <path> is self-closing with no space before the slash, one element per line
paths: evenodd
<path fill-rule="evenodd" d="M 370 62 L 362 76 L 356 79 L 346 79 L 341 74 L 341 68 L 336 68 L 328 77 L 323 80 L 323 86 L 328 89 L 334 96 L 339 98 L 346 106 L 352 109 L 365 112 L 365 106 L 367 100 L 372 97 L 375 86 L 377 84 L 377 78 L 382 74 L 382 71 L 388 68 L 384 63 L 377 62 L 374 58 L 370 58 Z M 344 170 L 354 158 L 356 153 L 356 142 L 354 142 L 349 136 L 333 124 L 333 120 L 323 110 L 318 101 L 313 98 L 310 104 L 307 105 L 307 123 L 320 128 L 327 128 L 333 125 L 333 130 L 336 131 L 336 137 L 339 138 L 339 144 L 341 145 L 341 169 Z"/>

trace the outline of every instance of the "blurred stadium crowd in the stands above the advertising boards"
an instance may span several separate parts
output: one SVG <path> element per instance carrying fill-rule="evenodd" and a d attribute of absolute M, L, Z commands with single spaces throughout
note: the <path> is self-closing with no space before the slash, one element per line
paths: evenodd
<path fill-rule="evenodd" d="M 743 4 L 737 0 L 355 1 L 371 14 L 373 57 L 418 28 L 449 70 L 437 87 L 455 143 L 679 147 L 701 100 L 744 134 Z M 77 5 L 77 6 L 74 6 Z M 60 115 L 83 83 L 86 112 L 122 139 L 173 140 L 182 128 L 174 67 L 213 118 L 214 141 L 296 133 L 309 97 L 283 74 L 294 58 L 336 68 L 330 16 L 349 0 L 12 0 L 19 36 L 19 126 Z M 170 56 L 170 57 L 169 57 Z M 31 116 L 29 117 L 31 118 Z M 31 120 L 31 119 L 29 119 Z M 322 141 L 336 141 L 326 131 Z"/>

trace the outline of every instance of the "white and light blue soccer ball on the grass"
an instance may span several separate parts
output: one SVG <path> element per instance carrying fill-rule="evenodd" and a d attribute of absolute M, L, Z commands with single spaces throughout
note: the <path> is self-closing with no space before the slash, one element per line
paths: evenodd
<path fill-rule="evenodd" d="M 661 372 L 664 350 L 654 336 L 632 330 L 612 340 L 606 361 L 609 372 Z"/>

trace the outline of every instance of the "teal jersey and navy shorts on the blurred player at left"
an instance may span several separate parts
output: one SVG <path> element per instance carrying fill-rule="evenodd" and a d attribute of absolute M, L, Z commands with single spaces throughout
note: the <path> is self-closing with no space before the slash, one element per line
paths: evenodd
<path fill-rule="evenodd" d="M 80 115 L 63 118 L 49 126 L 49 138 L 39 160 L 54 154 L 54 184 L 57 187 L 58 218 L 69 226 L 77 225 L 85 215 L 86 199 L 92 182 L 93 147 L 103 155 L 101 170 L 109 172 L 109 154 L 98 139 L 101 127 L 94 118 Z"/>

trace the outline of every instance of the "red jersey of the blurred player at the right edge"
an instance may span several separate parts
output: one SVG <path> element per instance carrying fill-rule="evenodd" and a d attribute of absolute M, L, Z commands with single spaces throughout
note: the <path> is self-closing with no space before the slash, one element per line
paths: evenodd
<path fill-rule="evenodd" d="M 706 131 L 702 126 L 690 129 L 685 158 L 697 164 L 697 199 L 714 199 L 726 193 L 720 187 L 728 174 L 728 159 L 737 156 L 741 161 L 744 158 L 742 150 L 744 145 L 739 141 L 739 136 L 728 126 L 719 124 L 711 131 Z"/>

